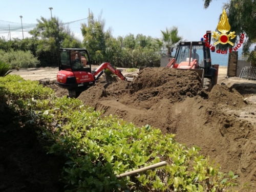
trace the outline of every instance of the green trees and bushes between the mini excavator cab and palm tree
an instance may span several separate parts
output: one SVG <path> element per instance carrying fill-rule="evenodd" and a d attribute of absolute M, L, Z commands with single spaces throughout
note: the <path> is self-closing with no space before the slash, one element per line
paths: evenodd
<path fill-rule="evenodd" d="M 90 53 L 92 63 L 111 62 L 115 67 L 157 67 L 160 55 L 152 37 L 134 34 L 114 38 L 111 29 L 104 30 L 105 20 L 90 14 L 90 25 L 81 25 L 83 45 Z"/>

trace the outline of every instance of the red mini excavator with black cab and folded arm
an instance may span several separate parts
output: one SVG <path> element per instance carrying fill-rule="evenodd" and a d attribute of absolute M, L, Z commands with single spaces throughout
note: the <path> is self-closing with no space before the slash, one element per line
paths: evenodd
<path fill-rule="evenodd" d="M 109 62 L 102 63 L 92 71 L 86 49 L 60 49 L 57 84 L 61 88 L 68 89 L 69 97 L 76 98 L 82 91 L 93 86 L 105 69 L 109 69 L 120 79 L 126 80 L 121 71 L 115 69 Z"/>

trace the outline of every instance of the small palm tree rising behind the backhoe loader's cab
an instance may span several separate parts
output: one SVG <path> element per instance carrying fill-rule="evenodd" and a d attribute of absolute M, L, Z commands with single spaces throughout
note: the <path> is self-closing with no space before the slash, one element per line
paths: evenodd
<path fill-rule="evenodd" d="M 166 31 L 161 30 L 161 33 L 162 33 L 162 38 L 161 38 L 162 46 L 164 46 L 167 49 L 167 55 L 171 55 L 170 48 L 174 47 L 175 44 L 177 44 L 179 41 L 182 41 L 183 37 L 178 35 L 178 27 L 176 26 L 170 29 L 166 27 Z M 159 41 L 159 39 L 156 39 L 156 41 Z M 159 46 L 160 45 L 161 44 L 159 44 Z"/>

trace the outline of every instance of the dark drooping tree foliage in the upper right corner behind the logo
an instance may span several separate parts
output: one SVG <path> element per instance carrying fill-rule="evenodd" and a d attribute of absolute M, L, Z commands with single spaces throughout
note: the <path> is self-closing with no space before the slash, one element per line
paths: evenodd
<path fill-rule="evenodd" d="M 204 0 L 204 8 L 208 8 L 211 0 Z M 245 34 L 246 40 L 243 42 L 243 54 L 249 54 L 249 48 L 256 43 L 256 2 L 254 0 L 231 0 L 224 4 L 223 9 L 226 9 L 230 31 L 236 32 L 235 38 L 231 42 L 238 44 L 241 34 Z M 218 46 L 217 46 L 218 47 Z M 219 45 L 221 49 L 227 49 L 228 45 Z"/>

